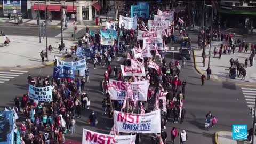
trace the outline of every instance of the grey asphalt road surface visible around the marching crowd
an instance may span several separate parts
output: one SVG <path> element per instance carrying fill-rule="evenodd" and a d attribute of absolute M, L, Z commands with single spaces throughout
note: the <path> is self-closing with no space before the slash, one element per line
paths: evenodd
<path fill-rule="evenodd" d="M 0 27 L 1 28 L 1 27 Z M 20 31 L 21 29 L 21 31 Z M 30 28 L 32 30 L 32 28 Z M 5 29 L 4 29 L 5 30 Z M 25 34 L 27 28 L 6 29 L 8 31 L 20 31 L 19 34 Z M 23 30 L 23 31 L 22 31 Z M 33 29 L 35 32 L 38 29 Z M 50 31 L 50 30 L 49 30 Z M 12 33 L 12 32 L 10 32 Z M 49 32 L 54 34 L 54 31 Z M 83 32 L 81 32 L 83 33 Z M 25 34 L 26 35 L 26 34 Z M 34 35 L 32 35 L 34 36 Z M 197 40 L 197 35 L 190 34 L 193 41 Z M 196 38 L 196 39 L 195 39 Z M 179 44 L 173 44 L 172 46 L 179 46 Z M 169 46 L 170 47 L 170 46 Z M 174 55 L 174 57 L 173 57 Z M 166 61 L 169 63 L 172 59 L 178 59 L 178 53 L 167 53 Z M 120 61 L 113 62 L 113 66 L 119 66 L 119 64 L 125 58 Z M 82 118 L 76 119 L 76 134 L 66 135 L 66 138 L 81 141 L 82 139 L 82 128 L 89 129 L 92 131 L 106 133 L 110 132 L 113 121 L 107 116 L 101 113 L 101 102 L 105 97 L 100 92 L 100 81 L 103 79 L 103 73 L 106 67 L 98 66 L 98 69 L 93 69 L 93 65 L 89 64 L 90 68 L 90 84 L 86 84 L 86 93 L 89 94 L 91 99 L 90 110 L 82 112 Z M 16 77 L 0 84 L 1 101 L 0 108 L 3 110 L 4 107 L 13 106 L 13 99 L 17 96 L 21 96 L 28 90 L 27 75 L 37 77 L 38 75 L 46 76 L 47 74 L 52 75 L 53 67 L 44 68 L 33 68 L 27 69 L 29 72 L 22 76 Z M 193 59 L 188 60 L 184 69 L 181 70 L 181 80 L 186 79 L 187 87 L 185 94 L 184 106 L 186 108 L 185 122 L 182 124 L 174 124 L 172 121 L 166 123 L 166 132 L 168 134 L 167 141 L 170 143 L 170 131 L 173 126 L 178 128 L 178 131 L 185 129 L 188 133 L 188 141 L 186 143 L 214 143 L 214 132 L 217 131 L 231 131 L 232 124 L 247 124 L 251 127 L 252 117 L 247 115 L 248 108 L 245 99 L 242 94 L 241 87 L 234 84 L 216 81 L 206 81 L 204 86 L 201 86 L 201 76 L 198 75 L 194 69 Z M 87 117 L 91 111 L 95 111 L 98 116 L 99 124 L 96 127 L 91 127 L 86 123 Z M 218 124 L 209 131 L 204 130 L 205 115 L 209 111 L 217 117 Z M 23 121 L 24 117 L 20 115 L 19 121 Z M 150 137 L 143 134 L 143 142 L 150 143 Z M 178 139 L 175 140 L 178 143 Z"/>

